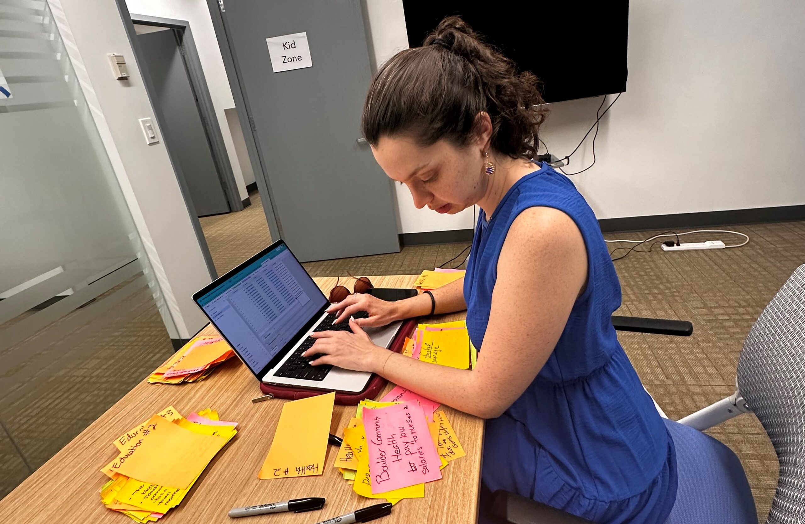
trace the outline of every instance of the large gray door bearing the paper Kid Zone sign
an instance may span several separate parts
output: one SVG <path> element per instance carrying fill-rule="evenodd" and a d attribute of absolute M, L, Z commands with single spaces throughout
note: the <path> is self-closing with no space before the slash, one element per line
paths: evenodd
<path fill-rule="evenodd" d="M 359 0 L 224 0 L 224 7 L 271 202 L 291 250 L 303 261 L 398 251 L 390 180 L 357 142 L 371 79 Z M 272 72 L 266 38 L 303 31 L 313 66 Z"/>

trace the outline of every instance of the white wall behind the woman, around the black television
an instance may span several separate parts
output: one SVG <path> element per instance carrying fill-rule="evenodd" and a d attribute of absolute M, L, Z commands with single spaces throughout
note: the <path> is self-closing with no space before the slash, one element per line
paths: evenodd
<path fill-rule="evenodd" d="M 382 64 L 407 47 L 402 2 L 370 0 L 366 11 Z M 573 178 L 597 216 L 805 204 L 802 27 L 797 0 L 632 0 L 627 91 L 602 122 L 595 167 Z M 539 35 L 536 24 L 518 30 Z M 551 105 L 552 153 L 572 151 L 600 103 Z M 591 144 L 566 171 L 592 163 Z M 407 189 L 395 190 L 402 233 L 464 223 L 412 209 Z"/>

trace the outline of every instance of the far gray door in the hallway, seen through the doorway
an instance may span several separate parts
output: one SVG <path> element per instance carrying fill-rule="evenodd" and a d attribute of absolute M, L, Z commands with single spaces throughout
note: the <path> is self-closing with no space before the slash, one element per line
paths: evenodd
<path fill-rule="evenodd" d="M 173 30 L 145 33 L 137 35 L 137 39 L 155 88 L 151 96 L 164 117 L 159 128 L 180 164 L 196 214 L 204 217 L 229 212 Z"/>

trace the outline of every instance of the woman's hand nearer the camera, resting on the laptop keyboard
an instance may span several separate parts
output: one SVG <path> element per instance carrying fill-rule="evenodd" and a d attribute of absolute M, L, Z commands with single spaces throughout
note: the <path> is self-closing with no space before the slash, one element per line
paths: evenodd
<path fill-rule="evenodd" d="M 324 353 L 322 357 L 312 361 L 311 365 L 332 364 L 344 369 L 377 373 L 389 357 L 389 350 L 374 345 L 369 335 L 351 317 L 349 328 L 353 332 L 312 333 L 311 336 L 317 339 L 316 343 L 303 353 L 303 357 Z"/>

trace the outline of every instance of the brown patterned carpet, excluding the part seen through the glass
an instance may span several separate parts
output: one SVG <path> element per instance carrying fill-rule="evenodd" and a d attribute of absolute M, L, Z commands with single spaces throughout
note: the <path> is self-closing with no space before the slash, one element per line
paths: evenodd
<path fill-rule="evenodd" d="M 229 270 L 270 243 L 258 195 L 246 211 L 202 219 L 219 273 Z M 749 244 L 715 251 L 649 253 L 637 250 L 615 262 L 621 279 L 621 315 L 690 320 L 690 337 L 619 333 L 643 384 L 671 419 L 680 419 L 735 390 L 741 345 L 763 307 L 797 266 L 805 263 L 805 222 L 723 226 L 746 233 Z M 607 234 L 610 240 L 642 240 L 655 233 Z M 737 235 L 700 233 L 683 241 L 721 239 L 740 243 Z M 610 249 L 630 244 L 610 244 Z M 414 245 L 400 253 L 341 258 L 304 264 L 313 276 L 416 274 L 460 253 L 467 243 Z M 647 250 L 643 245 L 639 250 Z M 625 253 L 621 250 L 617 254 Z M 457 266 L 462 254 L 448 266 Z M 462 266 L 463 267 L 463 266 Z M 349 286 L 349 283 L 347 284 Z M 708 434 L 741 458 L 764 522 L 777 485 L 778 462 L 766 432 L 753 415 L 741 415 Z"/>

